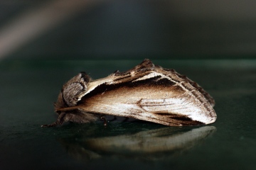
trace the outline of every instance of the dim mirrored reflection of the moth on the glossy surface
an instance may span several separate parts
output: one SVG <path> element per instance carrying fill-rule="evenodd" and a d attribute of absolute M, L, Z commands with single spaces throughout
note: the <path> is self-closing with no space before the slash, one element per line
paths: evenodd
<path fill-rule="evenodd" d="M 125 131 L 125 130 L 124 130 Z M 68 154 L 76 159 L 118 157 L 154 160 L 171 157 L 190 149 L 215 132 L 214 126 L 201 128 L 159 128 L 103 137 L 69 137 L 61 139 Z M 104 137 L 105 136 L 105 137 Z"/>

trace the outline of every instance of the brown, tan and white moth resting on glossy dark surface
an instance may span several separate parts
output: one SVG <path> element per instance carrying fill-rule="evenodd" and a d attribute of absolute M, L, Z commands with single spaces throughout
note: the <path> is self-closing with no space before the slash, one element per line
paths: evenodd
<path fill-rule="evenodd" d="M 70 79 L 54 104 L 58 120 L 89 123 L 106 115 L 146 120 L 169 126 L 214 123 L 215 101 L 201 86 L 174 69 L 164 69 L 145 59 L 127 72 L 92 80 L 85 72 Z"/>

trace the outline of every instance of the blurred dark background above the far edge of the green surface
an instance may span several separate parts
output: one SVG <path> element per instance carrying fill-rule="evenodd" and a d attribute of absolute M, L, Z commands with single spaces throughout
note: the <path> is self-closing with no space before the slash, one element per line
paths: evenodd
<path fill-rule="evenodd" d="M 0 61 L 256 56 L 256 1 L 0 1 Z"/>

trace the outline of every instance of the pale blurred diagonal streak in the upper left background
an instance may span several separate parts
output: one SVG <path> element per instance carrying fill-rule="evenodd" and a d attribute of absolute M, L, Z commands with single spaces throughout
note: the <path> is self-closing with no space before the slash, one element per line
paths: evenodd
<path fill-rule="evenodd" d="M 77 15 L 97 0 L 55 0 L 21 13 L 0 28 L 0 60 L 42 33 Z"/>

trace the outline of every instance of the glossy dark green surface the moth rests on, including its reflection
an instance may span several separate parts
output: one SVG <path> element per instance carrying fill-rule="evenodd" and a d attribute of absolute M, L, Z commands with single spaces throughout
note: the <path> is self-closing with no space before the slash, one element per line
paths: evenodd
<path fill-rule="evenodd" d="M 142 60 L 0 63 L 0 169 L 255 169 L 256 60 L 153 60 L 215 98 L 217 121 L 166 127 L 143 121 L 55 121 L 61 86 L 80 71 L 93 79 Z"/>

